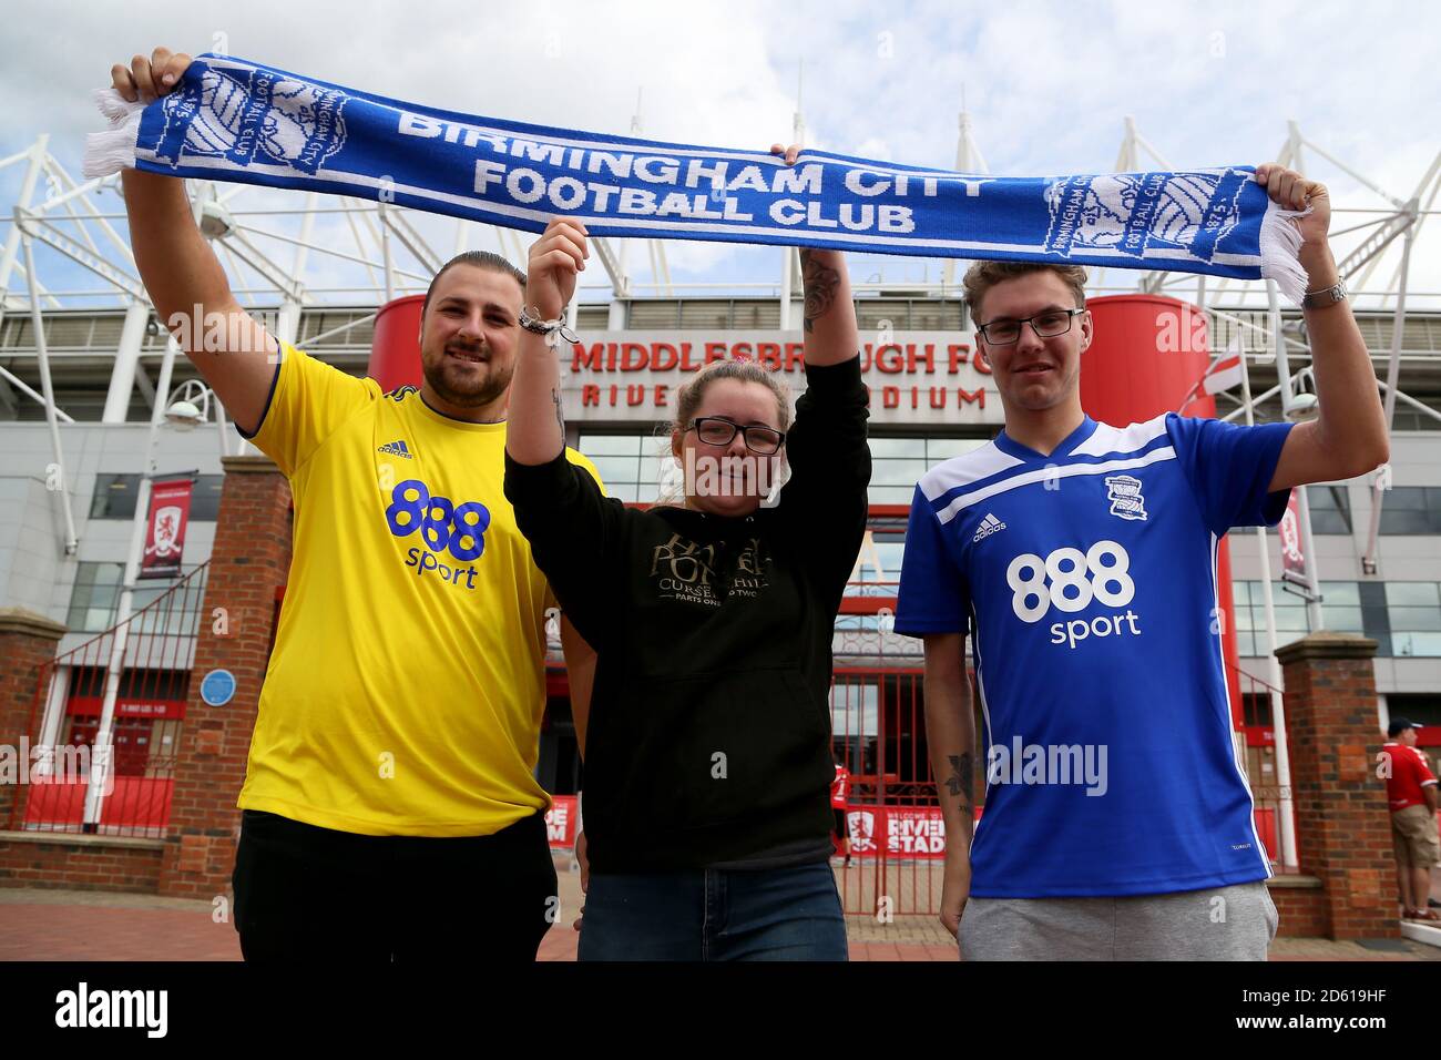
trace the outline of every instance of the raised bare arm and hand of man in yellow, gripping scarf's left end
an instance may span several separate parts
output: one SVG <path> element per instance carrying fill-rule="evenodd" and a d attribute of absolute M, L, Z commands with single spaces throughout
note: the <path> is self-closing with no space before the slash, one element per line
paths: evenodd
<path fill-rule="evenodd" d="M 180 84 L 189 65 L 189 55 L 157 48 L 148 59 L 137 55 L 128 66 L 112 66 L 111 82 L 131 102 L 148 104 Z M 184 182 L 128 169 L 121 186 L 130 245 L 156 313 L 236 427 L 254 433 L 278 371 L 275 340 L 231 293 L 225 270 L 196 228 Z"/>

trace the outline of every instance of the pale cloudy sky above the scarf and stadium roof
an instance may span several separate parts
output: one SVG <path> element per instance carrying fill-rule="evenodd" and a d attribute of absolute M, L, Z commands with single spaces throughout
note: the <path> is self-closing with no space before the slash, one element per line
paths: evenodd
<path fill-rule="evenodd" d="M 91 89 L 110 82 L 112 63 L 156 45 L 225 50 L 406 101 L 598 133 L 628 133 L 638 100 L 643 136 L 708 146 L 788 140 L 800 105 L 808 146 L 947 169 L 964 98 L 976 143 L 1003 176 L 1110 172 L 1127 117 L 1177 169 L 1272 160 L 1295 121 L 1307 140 L 1399 199 L 1415 193 L 1441 150 L 1434 3 L 7 0 L 0 35 L 9 101 L 0 159 L 43 133 L 76 176 L 85 133 L 104 127 Z M 1144 157 L 1143 166 L 1163 167 Z M 1337 206 L 1388 206 L 1314 151 L 1306 167 Z M 0 170 L 6 221 L 20 169 Z M 121 209 L 112 192 L 95 203 Z M 236 209 L 300 203 L 297 193 L 258 190 L 233 200 Z M 1331 228 L 1373 216 L 1337 215 Z M 254 224 L 294 231 L 290 219 Z M 454 222 L 418 224 L 450 252 Z M 316 237 L 354 252 L 339 218 L 317 224 Z M 526 245 L 530 238 L 522 235 Z M 470 244 L 496 241 L 476 229 Z M 778 274 L 774 249 L 672 241 L 666 251 L 676 281 L 774 284 Z M 630 260 L 646 278 L 644 248 Z M 938 270 L 934 260 L 853 264 L 860 278 L 896 284 L 935 280 Z M 37 271 L 52 288 L 95 286 L 53 255 Z M 1378 280 L 1389 278 L 1391 264 L 1382 273 Z M 1412 291 L 1441 293 L 1441 219 L 1422 229 L 1412 273 Z M 305 280 L 344 286 L 356 273 L 311 255 Z M 17 277 L 10 283 L 20 290 Z"/>

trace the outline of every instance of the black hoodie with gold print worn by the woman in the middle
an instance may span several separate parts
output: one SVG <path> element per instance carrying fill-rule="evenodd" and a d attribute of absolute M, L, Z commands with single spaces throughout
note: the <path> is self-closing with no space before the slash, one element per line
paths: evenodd
<path fill-rule="evenodd" d="M 597 873 L 830 852 L 830 649 L 870 450 L 859 359 L 806 378 L 791 477 L 749 516 L 630 509 L 563 454 L 506 456 L 516 522 L 598 656 L 584 796 Z"/>

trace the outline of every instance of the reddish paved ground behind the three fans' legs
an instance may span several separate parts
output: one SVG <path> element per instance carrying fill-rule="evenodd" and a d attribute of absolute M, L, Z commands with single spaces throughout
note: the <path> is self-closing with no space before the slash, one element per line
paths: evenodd
<path fill-rule="evenodd" d="M 561 920 L 542 960 L 575 960 L 579 875 L 561 868 Z M 847 881 L 849 883 L 849 881 Z M 852 960 L 957 960 L 955 943 L 929 916 L 889 924 L 847 917 Z M 209 901 L 144 894 L 0 888 L 0 960 L 239 960 L 228 920 Z M 1441 949 L 1398 940 L 1368 949 L 1329 939 L 1277 939 L 1272 960 L 1441 960 Z"/>

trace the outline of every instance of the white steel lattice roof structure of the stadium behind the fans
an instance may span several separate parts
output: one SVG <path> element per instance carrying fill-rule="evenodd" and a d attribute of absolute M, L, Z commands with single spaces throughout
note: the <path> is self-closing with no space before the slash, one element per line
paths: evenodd
<path fill-rule="evenodd" d="M 803 140 L 798 114 L 795 125 Z M 1277 162 L 1333 189 L 1331 244 L 1378 376 L 1396 394 L 1396 428 L 1435 428 L 1441 421 L 1441 224 L 1435 219 L 1441 151 L 1415 175 L 1414 187 L 1396 189 L 1310 141 L 1295 123 L 1280 138 Z M 955 167 L 989 172 L 964 112 Z M 1173 167 L 1127 118 L 1114 169 Z M 130 251 L 118 179 L 76 180 L 52 154 L 49 137 L 40 136 L 26 150 L 0 159 L 0 187 L 14 186 L 13 199 L 0 203 L 0 420 L 46 418 L 46 391 L 53 394 L 59 423 L 150 418 L 157 384 L 151 372 L 161 365 L 167 343 Z M 441 262 L 461 249 L 494 249 L 523 267 L 532 238 L 337 196 L 209 182 L 190 182 L 190 193 L 239 301 L 265 313 L 284 337 L 353 369 L 366 362 L 375 313 L 386 301 L 422 293 Z M 597 261 L 601 268 L 594 268 Z M 697 278 L 673 278 L 676 262 L 684 262 L 676 270 L 682 275 Z M 964 268 L 964 261 L 850 255 L 863 333 L 888 324 L 961 330 L 967 326 L 960 301 Z M 1274 411 L 1282 379 L 1295 389 L 1308 385 L 1310 352 L 1300 313 L 1281 306 L 1271 284 L 1091 270 L 1092 296 L 1127 291 L 1174 296 L 1203 307 L 1213 352 L 1239 337 L 1251 353 L 1258 411 L 1268 402 Z M 798 324 L 798 297 L 793 249 L 597 239 L 592 270 L 582 275 L 571 312 L 582 332 L 774 330 Z M 39 345 L 36 319 L 43 320 Z M 1280 363 L 1277 336 L 1284 336 L 1287 352 Z M 182 358 L 171 382 L 193 375 Z M 1222 417 L 1242 412 L 1239 397 L 1222 395 Z"/>

